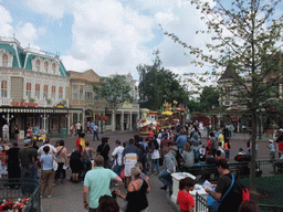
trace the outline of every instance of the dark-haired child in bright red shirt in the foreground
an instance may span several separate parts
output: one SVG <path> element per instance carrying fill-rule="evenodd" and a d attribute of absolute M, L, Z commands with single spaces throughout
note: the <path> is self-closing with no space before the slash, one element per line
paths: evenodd
<path fill-rule="evenodd" d="M 195 201 L 189 191 L 193 190 L 196 182 L 190 177 L 184 178 L 179 182 L 179 192 L 177 204 L 180 206 L 180 212 L 193 212 Z"/>

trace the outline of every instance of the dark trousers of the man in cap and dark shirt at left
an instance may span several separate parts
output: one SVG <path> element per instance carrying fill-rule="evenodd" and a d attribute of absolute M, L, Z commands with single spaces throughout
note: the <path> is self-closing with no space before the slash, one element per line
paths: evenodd
<path fill-rule="evenodd" d="M 21 192 L 24 195 L 27 192 L 31 194 L 34 190 L 34 183 L 30 179 L 34 179 L 34 167 L 21 167 Z"/>

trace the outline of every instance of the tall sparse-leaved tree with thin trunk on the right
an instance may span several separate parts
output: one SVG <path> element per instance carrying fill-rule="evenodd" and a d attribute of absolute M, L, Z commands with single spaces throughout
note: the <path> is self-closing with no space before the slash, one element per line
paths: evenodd
<path fill-rule="evenodd" d="M 222 1 L 223 2 L 223 1 Z M 211 42 L 207 50 L 182 42 L 176 34 L 167 35 L 188 49 L 201 61 L 214 68 L 229 67 L 231 95 L 247 107 L 245 114 L 252 119 L 252 152 L 255 152 L 258 117 L 262 108 L 273 107 L 270 91 L 282 80 L 282 29 L 283 18 L 276 17 L 275 8 L 281 0 L 234 0 L 227 9 L 220 0 L 212 4 L 202 0 L 191 0 L 202 14 Z M 199 33 L 198 31 L 197 33 Z M 207 53 L 208 52 L 208 53 Z M 255 155 L 252 155 L 250 189 L 255 191 Z"/>

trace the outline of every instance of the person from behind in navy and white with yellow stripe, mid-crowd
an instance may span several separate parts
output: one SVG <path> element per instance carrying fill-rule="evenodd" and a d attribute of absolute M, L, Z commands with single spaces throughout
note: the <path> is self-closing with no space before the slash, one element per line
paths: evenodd
<path fill-rule="evenodd" d="M 135 167 L 137 160 L 138 160 L 138 148 L 134 146 L 134 139 L 130 138 L 128 140 L 128 146 L 123 151 L 123 158 L 122 161 L 125 163 L 125 178 L 126 178 L 126 187 L 128 187 L 128 183 L 130 181 L 130 170 L 133 167 Z"/>

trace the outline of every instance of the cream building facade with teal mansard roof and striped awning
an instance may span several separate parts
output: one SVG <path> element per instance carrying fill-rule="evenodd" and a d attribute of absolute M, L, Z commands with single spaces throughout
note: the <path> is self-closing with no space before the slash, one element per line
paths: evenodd
<path fill-rule="evenodd" d="M 10 123 L 25 136 L 29 127 L 57 134 L 70 117 L 70 77 L 57 54 L 23 49 L 15 38 L 0 36 L 0 126 Z M 2 131 L 1 131 L 2 134 Z"/>

